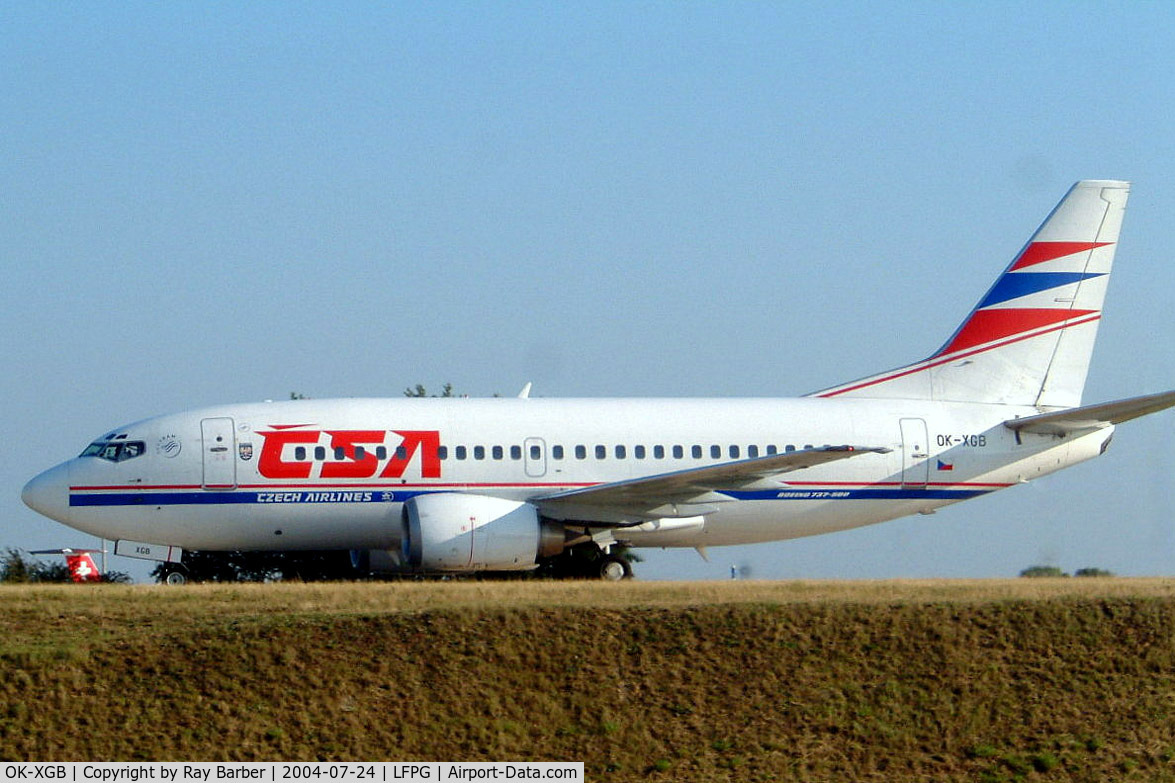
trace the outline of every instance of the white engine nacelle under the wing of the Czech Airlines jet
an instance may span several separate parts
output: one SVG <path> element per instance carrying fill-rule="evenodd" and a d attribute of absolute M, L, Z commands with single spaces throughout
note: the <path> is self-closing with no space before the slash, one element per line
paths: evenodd
<path fill-rule="evenodd" d="M 430 571 L 519 571 L 563 550 L 563 528 L 523 501 L 444 493 L 404 503 L 403 560 Z"/>

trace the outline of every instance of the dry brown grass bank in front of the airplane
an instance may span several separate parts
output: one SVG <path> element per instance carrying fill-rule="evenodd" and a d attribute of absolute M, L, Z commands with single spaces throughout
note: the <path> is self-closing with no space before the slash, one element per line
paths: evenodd
<path fill-rule="evenodd" d="M 0 758 L 1175 779 L 1175 581 L 4 587 Z"/>

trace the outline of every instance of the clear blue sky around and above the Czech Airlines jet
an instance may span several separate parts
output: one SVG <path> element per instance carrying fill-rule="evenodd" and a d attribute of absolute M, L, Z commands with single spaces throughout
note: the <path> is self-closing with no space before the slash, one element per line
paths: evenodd
<path fill-rule="evenodd" d="M 1168 4 L 6 2 L 0 547 L 89 544 L 21 486 L 155 414 L 787 396 L 919 359 L 1085 178 L 1134 182 L 1086 401 L 1175 388 L 1173 41 Z M 1171 574 L 1171 423 L 639 573 Z"/>

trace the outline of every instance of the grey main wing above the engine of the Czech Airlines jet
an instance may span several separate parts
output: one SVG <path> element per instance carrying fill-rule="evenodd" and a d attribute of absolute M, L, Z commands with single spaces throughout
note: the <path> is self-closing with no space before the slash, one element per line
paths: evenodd
<path fill-rule="evenodd" d="M 773 476 L 801 470 L 826 462 L 847 460 L 862 454 L 885 454 L 884 447 L 825 446 L 821 448 L 772 454 L 751 460 L 723 462 L 704 468 L 676 470 L 654 476 L 613 481 L 595 487 L 568 489 L 530 498 L 559 516 L 559 507 L 612 509 L 634 516 L 647 515 L 653 509 L 670 504 L 710 503 L 730 500 L 716 497 L 726 489 L 753 489 L 783 486 L 771 481 Z M 672 516 L 672 514 L 666 514 Z"/>

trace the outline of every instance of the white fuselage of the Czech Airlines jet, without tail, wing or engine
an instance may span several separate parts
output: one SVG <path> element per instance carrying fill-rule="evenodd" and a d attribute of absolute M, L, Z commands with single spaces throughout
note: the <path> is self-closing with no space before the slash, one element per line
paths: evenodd
<path fill-rule="evenodd" d="M 615 534 L 637 547 L 744 544 L 931 513 L 1096 456 L 1113 431 L 1018 436 L 1002 424 L 1038 413 L 815 397 L 222 406 L 114 430 L 101 442 L 130 444 L 123 453 L 70 460 L 26 493 L 35 488 L 39 510 L 105 538 L 201 550 L 396 549 L 402 504 L 423 494 L 526 501 L 806 447 L 891 449 L 711 494 L 664 518 L 620 520 Z M 51 483 L 56 506 L 43 500 Z M 570 517 L 591 527 L 588 513 Z"/>

